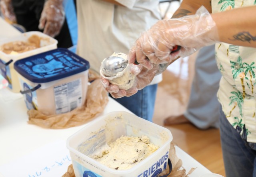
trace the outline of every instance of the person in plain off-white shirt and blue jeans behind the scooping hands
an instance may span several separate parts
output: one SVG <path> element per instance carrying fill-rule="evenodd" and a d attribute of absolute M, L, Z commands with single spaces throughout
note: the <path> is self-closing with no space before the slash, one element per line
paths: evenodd
<path fill-rule="evenodd" d="M 90 62 L 96 73 L 104 58 L 128 54 L 140 33 L 160 20 L 156 0 L 77 0 L 77 54 Z M 136 95 L 115 99 L 137 116 L 152 121 L 158 75 Z"/>

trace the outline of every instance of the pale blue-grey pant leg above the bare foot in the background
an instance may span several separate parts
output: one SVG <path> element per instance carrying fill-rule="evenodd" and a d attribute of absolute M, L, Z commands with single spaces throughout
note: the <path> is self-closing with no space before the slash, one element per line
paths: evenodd
<path fill-rule="evenodd" d="M 219 128 L 219 102 L 216 94 L 220 77 L 214 45 L 202 48 L 196 57 L 190 100 L 184 113 L 200 129 Z"/>

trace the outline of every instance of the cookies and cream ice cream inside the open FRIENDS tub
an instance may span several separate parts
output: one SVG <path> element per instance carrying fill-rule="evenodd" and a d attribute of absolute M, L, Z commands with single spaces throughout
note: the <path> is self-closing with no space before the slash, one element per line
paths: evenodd
<path fill-rule="evenodd" d="M 147 136 L 121 136 L 116 141 L 96 151 L 92 158 L 112 169 L 127 170 L 158 148 L 158 146 L 150 143 Z"/>

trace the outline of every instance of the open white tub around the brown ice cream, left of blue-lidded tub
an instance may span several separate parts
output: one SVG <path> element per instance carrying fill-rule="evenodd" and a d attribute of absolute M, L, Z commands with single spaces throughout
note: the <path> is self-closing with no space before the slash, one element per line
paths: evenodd
<path fill-rule="evenodd" d="M 30 51 L 25 51 L 22 53 L 4 53 L 1 49 L 1 46 L 16 41 L 28 41 L 29 37 L 32 35 L 37 35 L 40 37 L 40 47 L 36 49 L 32 49 Z M 42 53 L 45 51 L 49 51 L 57 48 L 58 41 L 42 32 L 39 31 L 30 31 L 26 33 L 22 33 L 20 35 L 16 35 L 14 37 L 10 37 L 8 39 L 0 41 L 0 75 L 2 75 L 8 81 L 8 88 L 12 92 L 19 92 L 20 85 L 18 81 L 18 75 L 14 70 L 14 62 L 23 59 L 32 55 L 36 55 L 38 53 Z"/>

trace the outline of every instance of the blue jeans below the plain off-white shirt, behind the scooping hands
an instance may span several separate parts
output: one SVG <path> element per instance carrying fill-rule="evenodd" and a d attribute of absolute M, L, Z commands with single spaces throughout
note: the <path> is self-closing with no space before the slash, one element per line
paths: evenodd
<path fill-rule="evenodd" d="M 152 122 L 156 100 L 157 84 L 149 85 L 129 97 L 114 98 L 136 116 Z"/>

